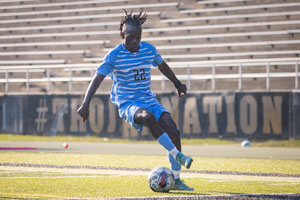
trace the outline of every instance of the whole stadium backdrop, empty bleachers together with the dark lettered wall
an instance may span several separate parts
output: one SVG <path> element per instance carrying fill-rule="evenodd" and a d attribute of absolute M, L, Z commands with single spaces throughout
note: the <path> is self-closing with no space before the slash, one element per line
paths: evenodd
<path fill-rule="evenodd" d="M 149 19 L 154 44 L 189 94 L 152 70 L 152 89 L 184 137 L 299 138 L 300 1 L 0 1 L 5 133 L 150 138 L 122 122 L 110 78 L 91 118 L 76 114 L 103 56 L 121 42 L 122 8 Z"/>

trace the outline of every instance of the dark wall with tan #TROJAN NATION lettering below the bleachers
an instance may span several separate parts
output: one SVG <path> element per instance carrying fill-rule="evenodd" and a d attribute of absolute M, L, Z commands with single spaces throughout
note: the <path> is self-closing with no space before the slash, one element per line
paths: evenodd
<path fill-rule="evenodd" d="M 81 95 L 0 96 L 0 132 L 34 135 L 93 135 L 151 139 L 119 118 L 109 95 L 95 95 L 83 123 L 76 110 Z M 299 139 L 300 93 L 229 92 L 157 95 L 172 114 L 182 137 Z"/>

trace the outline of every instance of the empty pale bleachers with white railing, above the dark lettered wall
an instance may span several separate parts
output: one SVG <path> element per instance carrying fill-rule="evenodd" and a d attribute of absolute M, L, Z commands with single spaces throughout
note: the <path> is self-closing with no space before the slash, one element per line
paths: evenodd
<path fill-rule="evenodd" d="M 299 88 L 300 0 L 2 0 L 0 92 L 83 93 L 122 42 L 122 8 L 149 14 L 142 40 L 191 91 Z M 151 73 L 154 91 L 174 90 Z"/>

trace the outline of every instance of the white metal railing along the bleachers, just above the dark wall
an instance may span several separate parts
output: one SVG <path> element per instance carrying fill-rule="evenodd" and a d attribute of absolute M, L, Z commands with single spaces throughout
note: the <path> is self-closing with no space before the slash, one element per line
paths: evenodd
<path fill-rule="evenodd" d="M 180 80 L 187 81 L 188 88 L 191 87 L 191 82 L 194 80 L 211 80 L 211 90 L 215 91 L 216 80 L 217 79 L 237 79 L 238 89 L 243 89 L 243 79 L 249 78 L 265 78 L 266 79 L 266 90 L 270 89 L 270 79 L 271 78 L 294 78 L 295 87 L 291 89 L 298 89 L 298 78 L 299 73 L 299 63 L 300 58 L 273 58 L 273 59 L 240 59 L 240 60 L 219 60 L 219 61 L 193 61 L 193 62 L 170 62 L 169 65 L 172 68 L 184 68 L 186 69 L 186 74 L 177 74 Z M 272 65 L 294 65 L 294 71 L 285 72 L 272 72 L 270 71 L 270 66 Z M 265 72 L 263 73 L 244 73 L 244 67 L 257 67 L 265 66 Z M 211 74 L 191 74 L 190 70 L 192 68 L 211 68 Z M 216 73 L 217 68 L 224 67 L 237 67 L 238 73 Z M 97 68 L 96 64 L 57 64 L 57 65 L 33 65 L 33 66 L 0 66 L 0 73 L 5 73 L 5 78 L 0 79 L 0 83 L 5 84 L 5 93 L 9 93 L 8 85 L 11 83 L 25 83 L 26 91 L 30 91 L 31 83 L 46 83 L 47 92 L 51 91 L 52 82 L 68 82 L 68 91 L 72 91 L 73 82 L 89 82 L 92 79 L 93 74 Z M 60 69 L 68 72 L 68 76 L 53 77 L 51 75 L 52 69 Z M 15 70 L 15 71 L 14 71 Z M 26 71 L 26 78 L 9 78 L 9 72 L 22 72 Z M 40 72 L 39 70 L 45 70 L 45 77 L 34 78 L 30 76 L 31 72 Z M 90 71 L 89 76 L 75 77 L 73 76 L 73 71 Z M 63 74 L 63 73 L 62 73 Z M 152 75 L 152 81 L 161 82 L 161 90 L 165 89 L 165 80 L 167 78 L 163 75 Z M 111 81 L 108 78 L 106 81 Z"/>

